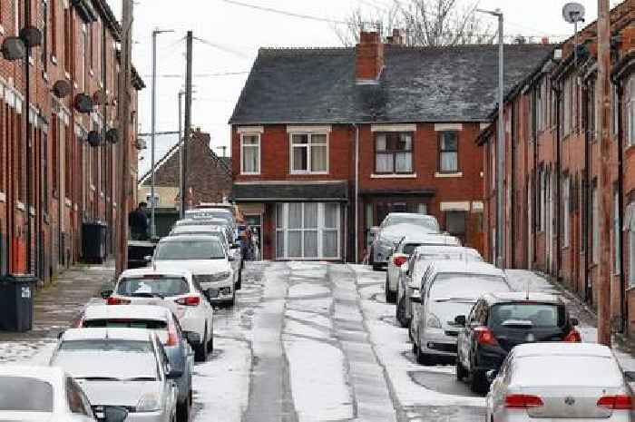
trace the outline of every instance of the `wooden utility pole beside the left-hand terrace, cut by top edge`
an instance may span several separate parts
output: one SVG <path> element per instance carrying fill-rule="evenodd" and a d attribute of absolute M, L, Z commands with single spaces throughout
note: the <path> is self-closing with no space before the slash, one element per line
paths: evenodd
<path fill-rule="evenodd" d="M 130 85 L 132 76 L 132 0 L 122 0 L 122 63 L 119 72 L 119 93 L 117 94 L 117 119 L 119 132 L 122 134 L 120 142 L 121 159 L 120 187 L 119 187 L 119 235 L 117 237 L 118 250 L 116 262 L 116 277 L 125 270 L 128 261 L 128 181 L 130 179 Z"/>

